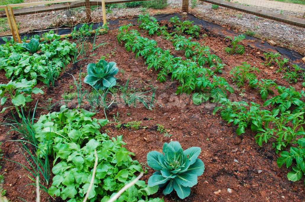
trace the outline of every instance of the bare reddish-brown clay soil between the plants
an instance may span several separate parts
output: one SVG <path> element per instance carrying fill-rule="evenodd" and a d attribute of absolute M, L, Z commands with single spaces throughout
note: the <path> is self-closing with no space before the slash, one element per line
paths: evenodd
<path fill-rule="evenodd" d="M 165 22 L 163 22 L 165 24 Z M 138 26 L 134 26 L 138 29 Z M 171 49 L 172 55 L 184 57 L 184 52 L 175 51 L 172 44 L 163 39 L 161 36 L 149 36 L 146 31 L 140 30 L 144 37 L 154 39 L 158 42 L 158 46 L 164 49 Z M 202 34 L 206 33 L 202 30 Z M 202 36 L 202 34 L 200 36 Z M 243 41 L 245 47 L 245 54 L 243 55 L 228 55 L 224 52 L 224 47 L 230 44 L 228 39 L 218 36 L 215 33 L 206 33 L 208 37 L 199 37 L 198 42 L 202 45 L 208 45 L 213 54 L 218 55 L 224 64 L 223 73 L 219 73 L 227 79 L 228 83 L 234 88 L 235 93 L 229 95 L 230 100 L 256 102 L 263 104 L 264 101 L 260 98 L 260 94 L 248 87 L 246 84 L 242 89 L 243 97 L 239 94 L 241 90 L 232 82 L 229 72 L 232 67 L 241 65 L 242 62 L 248 62 L 259 68 L 257 78 L 276 79 L 278 85 L 289 86 L 287 81 L 282 78 L 281 73 L 275 73 L 277 66 L 273 69 L 266 68 L 261 63 L 264 62 L 263 52 L 258 49 L 247 47 L 251 41 Z M 146 162 L 146 155 L 149 151 L 156 150 L 162 152 L 163 144 L 169 141 L 179 141 L 183 149 L 189 147 L 200 147 L 202 149 L 199 158 L 205 164 L 205 171 L 202 176 L 198 177 L 198 184 L 191 188 L 189 197 L 181 200 L 173 192 L 170 195 L 163 196 L 162 190 L 159 190 L 154 197 L 164 197 L 166 202 L 169 201 L 305 201 L 304 194 L 304 179 L 299 182 L 291 182 L 287 179 L 286 174 L 291 169 L 279 169 L 276 164 L 278 154 L 274 152 L 271 143 L 264 144 L 262 147 L 257 146 L 254 137 L 255 132 L 250 129 L 246 130 L 245 134 L 237 135 L 236 127 L 227 124 L 222 120 L 218 114 L 213 115 L 212 111 L 216 104 L 206 103 L 200 106 L 192 103 L 191 95 L 175 95 L 178 82 L 171 81 L 170 77 L 166 82 L 160 83 L 156 81 L 157 72 L 154 70 L 147 70 L 145 60 L 142 57 L 135 59 L 135 54 L 127 52 L 124 45 L 117 42 L 117 30 L 111 30 L 107 34 L 99 36 L 98 43 L 106 42 L 103 47 L 97 48 L 93 53 L 87 53 L 87 57 L 92 59 L 84 59 L 76 64 L 69 64 L 66 71 L 61 74 L 61 77 L 56 82 L 54 88 L 44 88 L 45 94 L 34 96 L 34 101 L 31 107 L 38 102 L 39 107 L 45 107 L 43 100 L 52 98 L 52 103 L 63 100 L 62 94 L 66 92 L 73 92 L 76 90 L 74 86 L 75 78 L 79 78 L 81 72 L 86 72 L 86 65 L 88 63 L 97 62 L 101 56 L 106 56 L 106 61 L 114 61 L 120 69 L 116 75 L 118 84 L 125 86 L 127 79 L 131 75 L 129 83 L 130 89 L 136 91 L 148 90 L 149 86 L 158 87 L 156 91 L 157 103 L 153 110 L 144 108 L 138 104 L 136 108 L 124 105 L 124 101 L 118 99 L 118 104 L 113 105 L 109 111 L 106 111 L 108 119 L 111 123 L 102 128 L 109 136 L 116 137 L 123 135 L 123 140 L 127 143 L 126 148 L 135 153 L 134 159 L 140 163 Z M 71 40 L 72 41 L 72 40 Z M 91 55 L 90 55 L 91 54 Z M 291 65 L 291 64 L 290 64 Z M 4 77 L 4 71 L 1 71 L 1 83 L 8 82 Z M 82 78 L 84 75 L 82 75 Z M 302 90 L 302 82 L 292 84 L 297 91 Z M 70 85 L 74 86 L 70 89 Z M 43 83 L 39 83 L 38 87 L 42 87 Z M 85 89 L 90 89 L 89 85 L 84 84 Z M 273 89 L 274 90 L 274 89 Z M 119 93 L 119 91 L 118 91 Z M 275 95 L 278 95 L 275 92 Z M 120 96 L 117 95 L 117 97 Z M 271 97 L 269 96 L 268 99 Z M 62 103 L 64 104 L 64 103 Z M 76 107 L 76 102 L 69 103 L 70 108 Z M 90 109 L 88 102 L 84 102 L 82 106 L 85 109 Z M 270 110 L 269 107 L 266 109 Z M 58 111 L 57 104 L 51 111 Z M 39 118 L 41 114 L 48 113 L 47 110 L 38 109 L 35 117 Z M 115 128 L 117 123 L 114 123 L 114 116 L 120 118 L 122 124 L 129 121 L 142 121 L 138 130 L 128 130 L 122 128 L 118 131 Z M 1 122 L 4 118 L 12 118 L 11 112 L 6 111 L 1 116 Z M 105 118 L 103 110 L 95 115 L 95 118 Z M 117 119 L 118 120 L 118 119 Z M 163 134 L 157 132 L 157 124 L 162 124 L 166 129 L 170 130 L 171 137 L 164 137 Z M 21 162 L 28 165 L 24 156 L 20 151 L 20 144 L 9 140 L 17 140 L 19 134 L 10 132 L 8 127 L 2 126 L 0 128 L 0 140 L 3 142 L 2 151 L 3 157 L 10 160 Z M 27 175 L 29 174 L 25 169 L 16 163 L 1 160 L 2 173 L 4 173 L 4 185 L 6 189 L 6 197 L 11 201 L 22 201 L 23 198 L 27 201 L 35 200 L 35 187 L 26 186 L 33 183 Z M 144 166 L 144 165 L 143 165 Z M 284 167 L 284 166 L 283 166 Z M 145 166 L 143 167 L 145 169 Z M 261 171 L 261 172 L 259 172 Z M 148 169 L 142 179 L 147 181 L 154 170 Z M 50 186 L 50 185 L 45 185 Z M 227 189 L 231 189 L 231 193 Z M 41 201 L 62 201 L 57 198 L 53 200 L 47 194 L 42 193 Z"/>

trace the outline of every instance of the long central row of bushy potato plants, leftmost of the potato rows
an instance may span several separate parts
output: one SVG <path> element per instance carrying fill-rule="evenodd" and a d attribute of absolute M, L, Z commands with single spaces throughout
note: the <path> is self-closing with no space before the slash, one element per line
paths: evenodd
<path fill-rule="evenodd" d="M 233 89 L 224 78 L 213 75 L 213 71 L 199 66 L 190 59 L 182 60 L 181 57 L 174 57 L 169 50 L 157 47 L 156 41 L 141 37 L 137 30 L 128 31 L 130 26 L 132 25 L 119 28 L 119 42 L 124 41 L 126 50 L 132 50 L 136 57 L 143 56 L 148 69 L 159 70 L 157 80 L 160 82 L 166 81 L 167 75 L 171 73 L 171 79 L 176 79 L 180 83 L 176 94 L 190 94 L 195 91 L 200 92 L 201 97 L 212 98 L 214 102 L 217 102 L 227 97 L 227 91 L 233 93 Z M 209 77 L 213 78 L 212 82 L 208 79 Z"/>

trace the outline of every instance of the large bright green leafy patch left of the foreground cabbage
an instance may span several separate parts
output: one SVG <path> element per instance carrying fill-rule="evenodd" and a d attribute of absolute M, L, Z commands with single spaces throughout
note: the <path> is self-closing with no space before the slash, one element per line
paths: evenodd
<path fill-rule="evenodd" d="M 94 150 L 98 166 L 88 197 L 91 201 L 108 201 L 113 193 L 136 178 L 136 172 L 143 171 L 138 161 L 132 160 L 134 154 L 122 146 L 125 145 L 122 136 L 111 140 L 107 134 L 99 132 L 108 121 L 91 118 L 94 115 L 83 109 L 69 110 L 62 106 L 60 112 L 42 115 L 33 125 L 41 149 L 37 155 L 48 150 L 48 155 L 54 156 L 52 172 L 55 176 L 48 190 L 51 196 L 60 196 L 69 202 L 83 201 L 92 177 Z M 138 181 L 118 200 L 133 202 L 142 197 L 149 200 L 148 195 L 157 189 L 157 186 L 148 187 L 144 181 Z"/>

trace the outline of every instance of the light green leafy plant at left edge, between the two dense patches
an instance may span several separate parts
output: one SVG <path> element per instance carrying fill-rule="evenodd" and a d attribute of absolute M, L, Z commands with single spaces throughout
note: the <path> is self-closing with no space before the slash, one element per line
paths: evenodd
<path fill-rule="evenodd" d="M 21 118 L 20 107 L 26 109 L 26 103 L 33 101 L 32 93 L 43 94 L 44 92 L 39 88 L 33 88 L 36 85 L 36 80 L 27 81 L 26 78 L 22 79 L 21 82 L 9 81 L 7 84 L 0 84 L 0 104 L 4 105 L 7 98 L 11 98 L 13 106 L 4 107 L 1 111 L 3 113 L 6 109 L 15 107 L 19 117 Z M 8 96 L 5 96 L 8 94 Z"/>

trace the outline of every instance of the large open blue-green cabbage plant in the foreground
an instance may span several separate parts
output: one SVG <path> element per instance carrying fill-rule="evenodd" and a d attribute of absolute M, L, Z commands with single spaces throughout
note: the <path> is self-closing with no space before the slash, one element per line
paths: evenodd
<path fill-rule="evenodd" d="M 148 180 L 148 186 L 166 186 L 163 194 L 173 190 L 178 197 L 184 199 L 191 193 L 192 186 L 197 184 L 197 177 L 203 174 L 204 164 L 197 158 L 201 152 L 199 147 L 191 147 L 183 151 L 179 142 L 164 143 L 163 154 L 152 151 L 147 154 L 147 164 L 157 170 Z"/>

